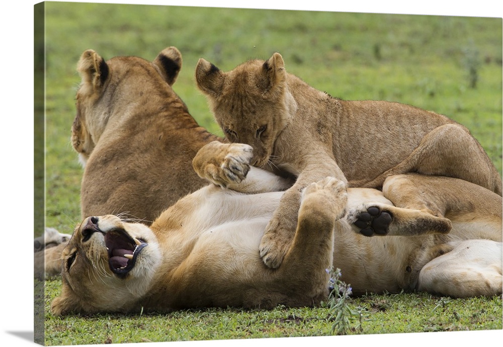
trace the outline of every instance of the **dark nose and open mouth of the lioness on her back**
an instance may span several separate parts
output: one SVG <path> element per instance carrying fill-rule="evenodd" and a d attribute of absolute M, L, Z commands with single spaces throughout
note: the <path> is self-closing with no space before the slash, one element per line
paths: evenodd
<path fill-rule="evenodd" d="M 97 217 L 88 219 L 87 224 L 81 230 L 82 242 L 89 240 L 95 232 L 102 233 L 107 247 L 110 270 L 120 278 L 125 278 L 134 268 L 138 255 L 147 243 L 130 236 L 122 228 L 103 231 L 99 228 L 98 223 L 99 218 Z"/>

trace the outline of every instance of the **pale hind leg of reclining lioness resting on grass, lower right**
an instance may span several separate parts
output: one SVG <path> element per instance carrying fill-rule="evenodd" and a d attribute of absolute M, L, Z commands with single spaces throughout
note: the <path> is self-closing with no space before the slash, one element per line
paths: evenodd
<path fill-rule="evenodd" d="M 461 241 L 423 267 L 417 289 L 455 298 L 501 295 L 502 251 L 501 242 Z"/>

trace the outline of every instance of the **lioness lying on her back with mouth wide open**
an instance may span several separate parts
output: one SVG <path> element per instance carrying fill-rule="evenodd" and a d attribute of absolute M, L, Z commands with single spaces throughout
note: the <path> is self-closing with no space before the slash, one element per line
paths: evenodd
<path fill-rule="evenodd" d="M 346 190 L 335 178 L 309 185 L 284 261 L 278 269 L 266 267 L 259 244 L 284 194 L 276 191 L 289 182 L 249 167 L 251 158 L 244 144 L 203 147 L 194 167 L 215 184 L 181 199 L 150 227 L 112 215 L 83 220 L 63 251 L 62 293 L 52 312 L 312 306 L 327 298 L 331 266 L 357 294 L 501 295 L 501 197 L 445 177 L 393 176 L 384 192 Z M 354 220 L 374 207 L 392 215 L 387 229 L 395 236 L 358 232 Z M 435 232 L 446 218 L 450 229 Z M 117 244 L 143 248 L 122 257 Z"/>

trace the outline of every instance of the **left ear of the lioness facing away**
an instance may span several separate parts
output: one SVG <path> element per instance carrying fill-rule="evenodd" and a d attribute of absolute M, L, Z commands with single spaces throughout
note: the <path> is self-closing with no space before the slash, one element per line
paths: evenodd
<path fill-rule="evenodd" d="M 82 78 L 80 91 L 85 94 L 99 91 L 105 84 L 109 73 L 105 59 L 92 49 L 82 53 L 77 63 L 77 71 Z"/>

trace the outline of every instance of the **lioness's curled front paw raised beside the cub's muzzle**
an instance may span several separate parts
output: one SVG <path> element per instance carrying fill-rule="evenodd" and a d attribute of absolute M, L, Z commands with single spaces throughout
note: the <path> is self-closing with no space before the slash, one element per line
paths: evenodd
<path fill-rule="evenodd" d="M 247 144 L 213 141 L 199 150 L 192 163 L 201 178 L 227 187 L 244 180 L 252 156 L 253 149 Z"/>

